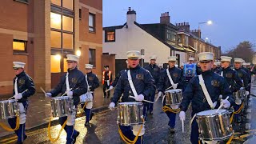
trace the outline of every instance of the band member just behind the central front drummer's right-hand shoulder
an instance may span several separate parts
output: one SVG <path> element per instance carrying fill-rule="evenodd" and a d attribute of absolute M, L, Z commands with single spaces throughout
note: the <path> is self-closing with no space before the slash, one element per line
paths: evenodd
<path fill-rule="evenodd" d="M 145 66 L 144 68 L 146 70 L 150 71 L 150 74 L 154 78 L 155 85 L 158 87 L 158 79 L 160 77 L 160 68 L 156 64 L 157 57 L 155 55 L 150 57 L 150 64 L 148 66 Z M 150 101 L 154 102 L 154 95 L 155 93 L 150 94 Z M 148 103 L 148 109 L 150 110 L 150 114 L 153 114 L 153 103 Z"/>

